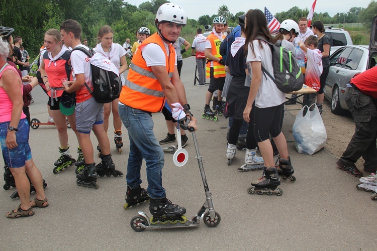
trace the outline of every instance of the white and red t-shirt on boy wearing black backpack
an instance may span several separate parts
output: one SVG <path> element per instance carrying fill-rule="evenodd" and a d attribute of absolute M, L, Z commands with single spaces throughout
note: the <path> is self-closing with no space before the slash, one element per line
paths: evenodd
<path fill-rule="evenodd" d="M 88 47 L 79 44 L 76 47 L 83 47 L 87 51 L 89 50 Z M 90 70 L 90 58 L 83 53 L 82 51 L 72 51 L 71 52 L 71 66 L 72 66 L 72 75 L 73 81 L 76 80 L 76 74 L 84 74 L 85 83 L 92 89 L 91 83 L 91 70 Z M 76 100 L 77 103 L 81 102 L 81 100 L 86 100 L 85 98 L 87 95 L 90 95 L 89 91 L 87 90 L 86 86 L 83 85 L 80 90 L 76 91 Z"/>

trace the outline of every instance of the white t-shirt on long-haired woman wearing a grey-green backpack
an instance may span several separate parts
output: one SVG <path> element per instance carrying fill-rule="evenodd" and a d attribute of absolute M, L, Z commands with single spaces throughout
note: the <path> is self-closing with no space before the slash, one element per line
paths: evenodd
<path fill-rule="evenodd" d="M 253 40 L 254 53 L 251 49 L 251 45 L 247 48 L 246 62 L 260 61 L 262 66 L 273 76 L 272 67 L 272 52 L 268 44 L 262 43 L 262 49 L 259 47 L 259 40 Z M 262 74 L 262 80 L 258 93 L 255 97 L 255 106 L 258 108 L 267 108 L 280 105 L 284 103 L 286 99 L 286 93 L 277 89 L 275 83 L 271 78 Z"/>

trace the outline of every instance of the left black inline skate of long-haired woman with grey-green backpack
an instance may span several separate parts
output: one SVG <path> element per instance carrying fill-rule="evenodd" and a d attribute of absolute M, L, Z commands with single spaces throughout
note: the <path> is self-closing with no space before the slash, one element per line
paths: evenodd
<path fill-rule="evenodd" d="M 247 189 L 249 194 L 253 194 L 254 192 L 259 195 L 262 195 L 263 193 L 272 195 L 274 193 L 277 196 L 280 196 L 282 194 L 282 190 L 277 188 L 277 186 L 280 185 L 280 179 L 276 167 L 264 167 L 262 178 L 251 182 L 251 185 L 252 187 Z"/>

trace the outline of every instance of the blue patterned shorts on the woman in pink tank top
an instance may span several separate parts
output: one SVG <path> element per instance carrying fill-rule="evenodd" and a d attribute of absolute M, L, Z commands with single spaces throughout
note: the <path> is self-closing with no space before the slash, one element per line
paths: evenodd
<path fill-rule="evenodd" d="M 17 147 L 9 149 L 5 140 L 8 134 L 10 121 L 0 123 L 0 141 L 5 163 L 11 168 L 24 167 L 25 162 L 31 160 L 31 150 L 29 146 L 29 123 L 26 118 L 20 120 L 18 124 L 18 132 L 16 132 Z"/>

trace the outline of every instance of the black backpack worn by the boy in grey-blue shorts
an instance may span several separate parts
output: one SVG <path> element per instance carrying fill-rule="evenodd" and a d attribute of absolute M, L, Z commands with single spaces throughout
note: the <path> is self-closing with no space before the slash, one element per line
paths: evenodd
<path fill-rule="evenodd" d="M 92 49 L 90 49 L 89 52 L 81 46 L 74 48 L 72 51 L 82 51 L 90 58 L 95 54 L 95 51 L 93 51 Z M 107 60 L 107 58 L 105 58 L 102 55 L 100 55 L 100 57 L 103 57 Z M 110 60 L 107 61 L 114 65 Z M 119 98 L 119 95 L 122 90 L 121 77 L 115 74 L 114 72 L 109 71 L 108 69 L 101 68 L 100 65 L 92 64 L 91 61 L 90 69 L 93 90 L 91 90 L 86 83 L 85 86 L 90 92 L 90 94 L 93 95 L 93 97 L 96 99 L 96 101 L 99 103 L 109 103 L 114 99 Z"/>

